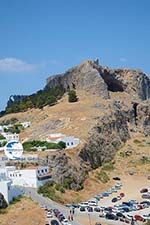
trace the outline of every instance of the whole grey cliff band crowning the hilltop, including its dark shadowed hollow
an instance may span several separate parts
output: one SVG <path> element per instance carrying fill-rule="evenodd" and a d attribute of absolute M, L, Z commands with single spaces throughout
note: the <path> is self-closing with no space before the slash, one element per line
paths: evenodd
<path fill-rule="evenodd" d="M 150 98 L 150 79 L 141 71 L 110 69 L 92 61 L 85 61 L 62 75 L 47 79 L 46 88 L 62 86 L 66 90 L 76 88 L 109 98 L 111 92 L 126 92 L 133 99 Z"/>

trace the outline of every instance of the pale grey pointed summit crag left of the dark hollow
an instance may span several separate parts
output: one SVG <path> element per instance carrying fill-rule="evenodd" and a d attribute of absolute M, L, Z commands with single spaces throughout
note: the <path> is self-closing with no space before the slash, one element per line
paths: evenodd
<path fill-rule="evenodd" d="M 99 75 L 96 64 L 85 61 L 62 75 L 56 75 L 47 79 L 46 88 L 61 86 L 65 90 L 85 90 L 89 94 L 96 94 L 102 98 L 109 98 L 107 85 Z"/>

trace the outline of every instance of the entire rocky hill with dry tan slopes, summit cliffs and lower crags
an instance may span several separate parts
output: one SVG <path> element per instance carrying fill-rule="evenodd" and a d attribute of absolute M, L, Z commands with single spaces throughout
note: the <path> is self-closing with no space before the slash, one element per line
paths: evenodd
<path fill-rule="evenodd" d="M 41 160 L 59 183 L 69 179 L 71 188 L 80 189 L 87 171 L 112 160 L 136 133 L 150 136 L 150 79 L 141 71 L 110 69 L 88 60 L 50 76 L 44 93 L 52 88 L 64 90 L 56 105 L 5 115 L 0 122 L 11 117 L 30 120 L 32 126 L 22 132 L 22 139 L 43 139 L 54 132 L 80 138 L 76 149 Z M 66 93 L 71 89 L 76 90 L 78 102 L 68 102 Z"/>

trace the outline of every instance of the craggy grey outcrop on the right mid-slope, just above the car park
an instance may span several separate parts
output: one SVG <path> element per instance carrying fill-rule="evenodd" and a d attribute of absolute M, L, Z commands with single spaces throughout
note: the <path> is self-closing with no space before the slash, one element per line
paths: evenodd
<path fill-rule="evenodd" d="M 112 160 L 122 143 L 129 138 L 126 117 L 121 111 L 115 111 L 99 119 L 79 156 L 92 168 L 97 168 L 104 162 Z"/>

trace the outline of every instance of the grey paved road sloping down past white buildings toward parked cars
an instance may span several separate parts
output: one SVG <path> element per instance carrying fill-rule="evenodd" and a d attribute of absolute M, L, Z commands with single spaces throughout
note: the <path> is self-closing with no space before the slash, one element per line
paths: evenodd
<path fill-rule="evenodd" d="M 33 201 L 38 202 L 40 205 L 47 206 L 48 208 L 51 209 L 59 209 L 66 218 L 68 218 L 69 215 L 69 209 L 61 204 L 58 204 L 49 198 L 43 197 L 42 195 L 37 193 L 36 189 L 33 188 L 23 188 L 23 191 L 25 195 L 29 196 L 32 198 Z M 81 225 L 76 221 L 71 222 L 72 225 Z"/>

